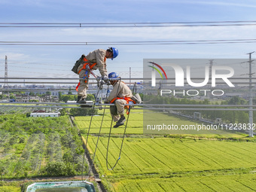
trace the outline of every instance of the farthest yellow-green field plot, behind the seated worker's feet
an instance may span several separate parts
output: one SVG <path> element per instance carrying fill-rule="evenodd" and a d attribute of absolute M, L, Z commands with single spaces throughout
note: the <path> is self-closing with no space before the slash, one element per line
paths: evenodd
<path fill-rule="evenodd" d="M 192 120 L 187 120 L 184 117 L 177 117 L 173 114 L 163 114 L 163 113 L 153 113 L 152 111 L 145 112 L 147 115 L 145 116 L 142 111 L 131 112 L 130 117 L 126 116 L 126 122 L 120 128 L 126 126 L 127 123 L 127 134 L 227 134 L 228 132 L 225 130 L 197 130 L 197 126 L 202 127 L 203 123 L 194 122 Z M 105 114 L 104 119 L 102 121 L 102 115 L 93 116 L 92 120 L 90 116 L 86 117 L 75 117 L 76 123 L 78 124 L 78 128 L 80 130 L 88 130 L 90 126 L 90 133 L 99 133 L 99 127 L 102 125 L 101 133 L 109 133 L 110 127 L 114 126 L 115 122 L 112 122 L 111 125 L 111 115 Z M 144 123 L 144 124 L 143 124 Z M 147 130 L 148 125 L 155 124 L 165 124 L 165 125 L 174 125 L 178 127 L 178 130 L 166 130 L 166 131 L 158 131 L 154 130 L 155 127 L 152 127 L 153 130 Z M 187 130 L 181 130 L 181 126 L 191 127 Z M 205 124 L 204 124 L 205 125 Z M 145 130 L 143 130 L 143 126 L 145 126 Z M 114 129 L 112 133 L 120 134 L 123 133 L 122 130 Z M 229 133 L 230 134 L 230 133 Z"/>

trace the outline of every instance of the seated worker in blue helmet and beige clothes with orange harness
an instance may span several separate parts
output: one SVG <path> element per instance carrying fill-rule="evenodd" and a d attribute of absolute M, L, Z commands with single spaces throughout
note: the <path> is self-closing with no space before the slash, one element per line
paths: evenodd
<path fill-rule="evenodd" d="M 120 81 L 120 76 L 116 72 L 111 72 L 108 74 L 108 80 L 113 86 L 113 90 L 109 93 L 108 98 L 105 100 L 105 103 L 114 103 L 116 107 L 116 113 L 111 110 L 111 116 L 114 122 L 117 122 L 114 125 L 114 128 L 122 126 L 126 121 L 124 117 L 124 109 L 127 108 L 129 101 L 132 101 L 133 93 L 130 88 Z"/>

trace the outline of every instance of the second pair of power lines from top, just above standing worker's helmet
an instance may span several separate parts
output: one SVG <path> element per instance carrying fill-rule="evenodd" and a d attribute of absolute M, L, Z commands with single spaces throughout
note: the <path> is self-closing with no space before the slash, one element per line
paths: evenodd
<path fill-rule="evenodd" d="M 145 45 L 145 44 L 237 44 L 255 43 L 256 38 L 249 39 L 215 39 L 215 40 L 177 40 L 177 41 L 0 41 L 0 45 Z"/>

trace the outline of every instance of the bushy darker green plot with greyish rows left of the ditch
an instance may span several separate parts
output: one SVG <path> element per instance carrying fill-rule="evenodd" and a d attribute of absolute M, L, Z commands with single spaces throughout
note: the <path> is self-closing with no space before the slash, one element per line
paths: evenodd
<path fill-rule="evenodd" d="M 5 115 L 0 120 L 4 122 L 0 127 L 0 172 L 5 173 L 4 178 L 44 175 L 44 167 L 54 162 L 72 165 L 81 173 L 84 149 L 68 116 Z"/>

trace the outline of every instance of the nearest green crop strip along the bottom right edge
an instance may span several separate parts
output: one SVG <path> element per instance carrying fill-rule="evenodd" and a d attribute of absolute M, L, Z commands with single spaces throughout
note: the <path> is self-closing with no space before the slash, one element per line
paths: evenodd
<path fill-rule="evenodd" d="M 115 182 L 112 191 L 254 191 L 255 174 L 199 176 L 193 178 L 144 178 Z"/>

